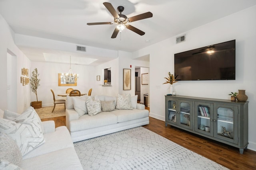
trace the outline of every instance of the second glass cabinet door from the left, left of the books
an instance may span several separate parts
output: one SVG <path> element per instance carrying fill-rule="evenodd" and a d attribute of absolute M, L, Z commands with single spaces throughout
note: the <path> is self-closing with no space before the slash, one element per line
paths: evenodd
<path fill-rule="evenodd" d="M 179 124 L 182 127 L 186 127 L 188 129 L 192 129 L 190 124 L 192 125 L 192 115 L 190 115 L 190 111 L 192 111 L 192 102 L 191 101 L 183 101 L 179 100 Z M 191 112 L 192 113 L 192 112 Z"/>

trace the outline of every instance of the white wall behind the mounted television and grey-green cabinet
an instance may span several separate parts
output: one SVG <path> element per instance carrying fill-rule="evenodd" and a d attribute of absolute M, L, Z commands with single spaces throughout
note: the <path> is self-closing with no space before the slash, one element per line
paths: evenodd
<path fill-rule="evenodd" d="M 236 39 L 236 80 L 180 81 L 174 85 L 178 95 L 227 100 L 230 99 L 230 92 L 245 89 L 249 101 L 248 148 L 256 150 L 255 21 L 256 6 L 253 6 L 185 32 L 186 41 L 183 43 L 175 44 L 177 35 L 134 52 L 133 55 L 137 57 L 150 54 L 150 116 L 165 119 L 164 95 L 168 94 L 169 86 L 162 83 L 168 72 L 174 72 L 175 53 Z"/>

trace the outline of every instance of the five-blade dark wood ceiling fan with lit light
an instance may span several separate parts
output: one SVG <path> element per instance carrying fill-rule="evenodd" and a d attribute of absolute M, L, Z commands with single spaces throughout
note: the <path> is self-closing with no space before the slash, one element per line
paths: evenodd
<path fill-rule="evenodd" d="M 117 14 L 116 10 L 112 6 L 112 4 L 108 2 L 104 2 L 103 5 L 107 8 L 107 10 L 112 14 L 114 17 L 114 22 L 94 22 L 94 23 L 87 23 L 87 25 L 104 25 L 104 24 L 117 24 L 111 38 L 116 38 L 119 31 L 122 31 L 124 28 L 130 29 L 131 31 L 134 31 L 135 33 L 139 35 L 144 35 L 145 33 L 141 31 L 140 29 L 133 27 L 132 25 L 126 25 L 127 23 L 143 20 L 146 18 L 151 18 L 153 14 L 151 12 L 146 12 L 143 14 L 139 14 L 137 16 L 133 16 L 130 18 L 127 18 L 125 15 L 122 14 L 124 11 L 123 6 L 118 6 L 117 9 L 120 12 L 120 14 Z"/>

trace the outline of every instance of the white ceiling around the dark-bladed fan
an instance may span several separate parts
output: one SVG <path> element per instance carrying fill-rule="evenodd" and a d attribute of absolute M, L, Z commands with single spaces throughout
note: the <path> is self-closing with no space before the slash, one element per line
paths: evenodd
<path fill-rule="evenodd" d="M 152 18 L 130 23 L 146 34 L 140 36 L 125 29 L 111 39 L 115 24 L 86 25 L 114 21 L 103 2 L 110 2 L 115 9 L 124 6 L 122 14 L 128 18 L 152 12 Z M 17 34 L 134 52 L 254 5 L 256 0 L 0 0 L 0 14 Z M 60 53 L 22 45 L 19 48 L 32 61 L 34 56 Z"/>

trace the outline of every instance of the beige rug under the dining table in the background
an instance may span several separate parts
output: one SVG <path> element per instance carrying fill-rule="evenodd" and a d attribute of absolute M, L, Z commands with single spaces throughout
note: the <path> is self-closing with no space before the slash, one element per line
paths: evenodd
<path fill-rule="evenodd" d="M 66 111 L 64 105 L 55 106 L 55 109 L 52 113 L 53 106 L 51 107 L 42 107 L 40 109 L 35 109 L 36 113 L 39 115 L 40 119 L 65 116 Z"/>

